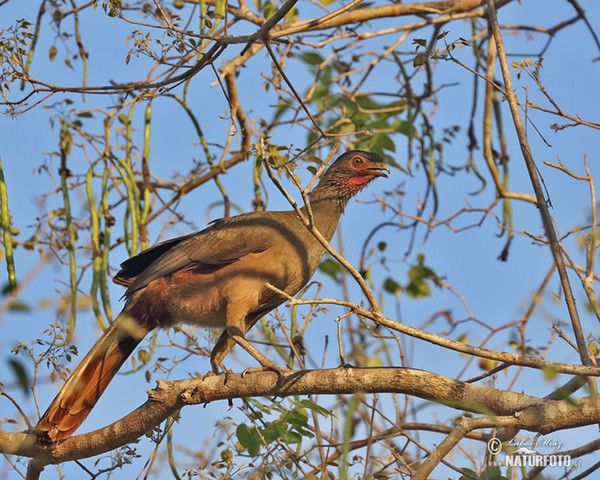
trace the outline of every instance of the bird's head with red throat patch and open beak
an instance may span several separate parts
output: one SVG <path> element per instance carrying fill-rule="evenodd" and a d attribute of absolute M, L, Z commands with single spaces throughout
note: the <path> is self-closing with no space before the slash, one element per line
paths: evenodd
<path fill-rule="evenodd" d="M 321 177 L 310 199 L 331 198 L 335 195 L 345 203 L 376 177 L 390 173 L 379 155 L 362 150 L 349 150 L 340 155 Z"/>

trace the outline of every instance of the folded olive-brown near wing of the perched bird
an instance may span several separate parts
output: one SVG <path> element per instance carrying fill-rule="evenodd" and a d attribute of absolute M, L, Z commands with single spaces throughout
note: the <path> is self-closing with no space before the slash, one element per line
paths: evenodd
<path fill-rule="evenodd" d="M 126 286 L 126 295 L 130 295 L 153 280 L 178 271 L 214 271 L 250 253 L 262 252 L 271 244 L 271 238 L 260 235 L 261 232 L 251 234 L 245 228 L 251 224 L 252 214 L 240 215 L 159 243 L 123 262 L 113 281 Z"/>

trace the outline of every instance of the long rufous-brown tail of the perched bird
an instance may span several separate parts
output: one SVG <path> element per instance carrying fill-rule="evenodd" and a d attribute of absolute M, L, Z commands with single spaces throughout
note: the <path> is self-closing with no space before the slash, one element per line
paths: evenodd
<path fill-rule="evenodd" d="M 63 440 L 79 428 L 147 333 L 148 329 L 133 317 L 119 314 L 40 418 L 35 430 L 41 441 Z"/>

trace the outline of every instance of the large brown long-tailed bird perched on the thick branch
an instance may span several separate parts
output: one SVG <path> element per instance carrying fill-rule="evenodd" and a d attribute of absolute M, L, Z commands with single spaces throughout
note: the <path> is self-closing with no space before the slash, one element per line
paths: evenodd
<path fill-rule="evenodd" d="M 371 180 L 389 173 L 377 154 L 346 151 L 323 173 L 301 210 L 306 216 L 310 208 L 313 225 L 329 241 L 348 201 Z M 216 220 L 200 232 L 158 243 L 124 261 L 113 278 L 126 288 L 123 310 L 38 421 L 40 443 L 70 437 L 155 328 L 183 323 L 221 329 L 210 359 L 215 373 L 236 344 L 263 368 L 280 374 L 287 370 L 245 334 L 286 300 L 276 289 L 293 296 L 310 281 L 324 251 L 294 210 L 255 211 Z"/>

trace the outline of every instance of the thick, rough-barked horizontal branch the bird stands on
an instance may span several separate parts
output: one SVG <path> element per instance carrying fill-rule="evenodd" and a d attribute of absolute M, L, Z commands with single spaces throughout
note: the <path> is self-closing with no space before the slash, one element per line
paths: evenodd
<path fill-rule="evenodd" d="M 402 393 L 464 411 L 508 416 L 501 424 L 549 433 L 600 421 L 600 405 L 544 400 L 530 395 L 472 385 L 441 375 L 406 368 L 347 368 L 305 370 L 283 382 L 273 372 L 209 376 L 173 382 L 159 381 L 149 399 L 115 423 L 76 435 L 58 445 L 40 446 L 34 435 L 0 431 L 0 452 L 36 458 L 47 463 L 99 455 L 133 442 L 186 405 L 242 397 Z"/>

